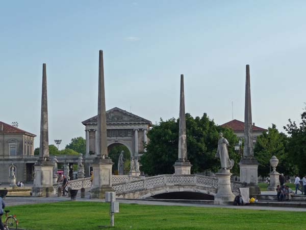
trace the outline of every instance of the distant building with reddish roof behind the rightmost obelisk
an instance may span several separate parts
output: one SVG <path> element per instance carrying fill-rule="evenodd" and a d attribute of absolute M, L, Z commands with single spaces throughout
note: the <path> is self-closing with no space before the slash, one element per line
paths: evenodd
<path fill-rule="evenodd" d="M 230 122 L 226 122 L 221 125 L 222 127 L 231 128 L 233 129 L 234 133 L 237 135 L 238 138 L 244 137 L 244 122 L 233 120 Z M 256 142 L 257 136 L 261 135 L 264 131 L 267 131 L 267 129 L 255 126 L 255 123 L 253 123 L 253 142 Z"/>

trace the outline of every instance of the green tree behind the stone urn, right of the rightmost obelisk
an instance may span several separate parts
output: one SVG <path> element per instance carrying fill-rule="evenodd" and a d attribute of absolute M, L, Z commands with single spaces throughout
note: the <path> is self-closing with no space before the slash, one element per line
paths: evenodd
<path fill-rule="evenodd" d="M 276 125 L 268 128 L 262 135 L 257 137 L 254 145 L 254 156 L 259 162 L 259 175 L 267 176 L 270 173 L 270 158 L 276 156 L 279 160 L 277 171 L 292 174 L 294 166 L 288 160 L 286 146 L 288 137 L 285 133 L 278 132 Z"/>

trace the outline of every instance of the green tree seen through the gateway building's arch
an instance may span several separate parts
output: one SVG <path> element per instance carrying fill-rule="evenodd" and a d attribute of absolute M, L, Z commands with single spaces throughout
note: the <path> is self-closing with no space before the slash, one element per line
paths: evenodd
<path fill-rule="evenodd" d="M 123 163 L 123 173 L 127 174 L 130 171 L 131 153 L 126 146 L 121 145 L 121 144 L 114 145 L 109 150 L 109 157 L 111 157 L 111 159 L 114 163 L 112 171 L 113 171 L 113 173 L 115 171 L 118 171 L 118 159 L 119 159 L 119 155 L 120 155 L 121 151 L 124 151 L 124 154 L 123 154 L 123 158 L 124 158 L 124 160 L 123 160 L 123 162 L 124 162 Z"/>

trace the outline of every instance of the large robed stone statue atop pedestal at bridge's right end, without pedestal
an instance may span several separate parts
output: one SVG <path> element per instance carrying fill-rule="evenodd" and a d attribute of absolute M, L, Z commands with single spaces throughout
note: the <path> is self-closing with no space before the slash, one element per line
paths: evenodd
<path fill-rule="evenodd" d="M 228 157 L 228 141 L 223 137 L 223 133 L 219 133 L 220 139 L 218 141 L 218 149 L 216 157 L 220 157 L 221 169 L 232 169 L 234 166 L 234 160 Z"/>

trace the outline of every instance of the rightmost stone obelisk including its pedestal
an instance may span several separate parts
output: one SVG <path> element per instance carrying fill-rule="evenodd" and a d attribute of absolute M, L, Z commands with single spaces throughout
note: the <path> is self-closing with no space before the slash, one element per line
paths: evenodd
<path fill-rule="evenodd" d="M 250 188 L 250 195 L 260 194 L 258 187 L 258 161 L 253 155 L 253 126 L 251 110 L 250 67 L 246 65 L 245 107 L 244 107 L 244 148 L 240 160 L 240 181 Z"/>

